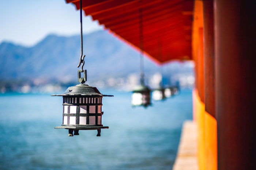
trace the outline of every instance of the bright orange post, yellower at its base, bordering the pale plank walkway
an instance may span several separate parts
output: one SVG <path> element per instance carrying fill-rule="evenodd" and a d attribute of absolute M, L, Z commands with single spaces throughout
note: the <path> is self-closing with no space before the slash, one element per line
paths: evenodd
<path fill-rule="evenodd" d="M 204 132 L 204 62 L 203 62 L 203 3 L 195 0 L 192 32 L 192 56 L 195 60 L 196 87 L 193 91 L 193 115 L 198 129 L 198 162 L 205 169 Z"/>

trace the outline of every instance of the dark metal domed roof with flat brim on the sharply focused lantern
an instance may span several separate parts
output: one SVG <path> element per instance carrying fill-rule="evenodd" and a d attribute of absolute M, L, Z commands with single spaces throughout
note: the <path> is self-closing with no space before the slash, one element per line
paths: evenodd
<path fill-rule="evenodd" d="M 51 96 L 109 96 L 113 95 L 104 95 L 99 92 L 96 87 L 89 86 L 87 84 L 77 84 L 76 86 L 68 87 L 67 90 L 63 94 L 53 94 Z"/>

